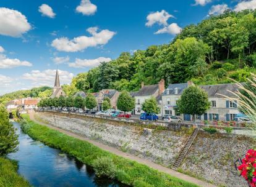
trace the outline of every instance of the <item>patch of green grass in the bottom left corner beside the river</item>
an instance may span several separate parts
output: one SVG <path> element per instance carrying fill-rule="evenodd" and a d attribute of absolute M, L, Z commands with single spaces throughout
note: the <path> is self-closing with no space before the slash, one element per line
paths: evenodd
<path fill-rule="evenodd" d="M 0 186 L 28 187 L 28 181 L 17 173 L 17 162 L 0 157 Z"/>

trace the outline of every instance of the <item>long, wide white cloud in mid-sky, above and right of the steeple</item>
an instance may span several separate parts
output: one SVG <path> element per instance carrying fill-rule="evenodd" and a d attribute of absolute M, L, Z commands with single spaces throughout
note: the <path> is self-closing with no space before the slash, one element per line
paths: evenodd
<path fill-rule="evenodd" d="M 92 36 L 79 36 L 71 40 L 66 37 L 54 39 L 51 46 L 59 51 L 77 52 L 87 47 L 105 45 L 113 38 L 114 34 L 116 34 L 109 30 L 102 30 L 97 33 L 97 30 L 98 27 L 90 27 L 87 29 L 88 33 L 92 34 Z"/>

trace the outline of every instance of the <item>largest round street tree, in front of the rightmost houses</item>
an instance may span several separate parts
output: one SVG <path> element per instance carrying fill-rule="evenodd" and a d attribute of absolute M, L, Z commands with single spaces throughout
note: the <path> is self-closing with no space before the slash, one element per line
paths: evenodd
<path fill-rule="evenodd" d="M 195 115 L 200 116 L 210 108 L 208 94 L 198 86 L 189 86 L 177 100 L 177 108 L 180 113 L 192 115 L 195 122 Z"/>

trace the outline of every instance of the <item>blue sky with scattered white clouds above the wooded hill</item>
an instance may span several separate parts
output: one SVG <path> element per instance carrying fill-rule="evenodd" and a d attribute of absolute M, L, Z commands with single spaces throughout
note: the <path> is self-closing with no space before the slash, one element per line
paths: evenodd
<path fill-rule="evenodd" d="M 61 83 L 121 52 L 166 44 L 184 26 L 256 0 L 1 0 L 0 95 Z"/>

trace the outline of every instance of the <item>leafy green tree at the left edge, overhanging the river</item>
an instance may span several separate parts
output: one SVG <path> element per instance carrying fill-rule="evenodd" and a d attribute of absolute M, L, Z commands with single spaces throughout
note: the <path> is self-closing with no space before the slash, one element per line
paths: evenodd
<path fill-rule="evenodd" d="M 4 105 L 0 104 L 0 156 L 17 151 L 19 145 L 18 135 L 15 128 L 9 122 L 9 114 Z"/>

